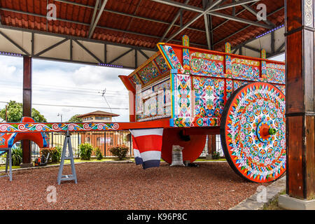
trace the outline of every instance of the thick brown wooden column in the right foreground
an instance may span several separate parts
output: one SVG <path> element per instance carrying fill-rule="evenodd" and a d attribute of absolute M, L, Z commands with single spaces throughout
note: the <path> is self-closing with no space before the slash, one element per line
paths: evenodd
<path fill-rule="evenodd" d="M 315 199 L 314 6 L 286 0 L 286 193 Z"/>

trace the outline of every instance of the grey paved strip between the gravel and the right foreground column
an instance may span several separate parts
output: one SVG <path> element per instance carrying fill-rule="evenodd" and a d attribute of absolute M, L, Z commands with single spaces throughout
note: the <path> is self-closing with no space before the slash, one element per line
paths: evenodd
<path fill-rule="evenodd" d="M 230 208 L 229 210 L 261 210 L 264 205 L 269 204 L 281 191 L 286 190 L 286 176 L 281 179 L 274 181 L 271 185 L 267 186 L 264 190 L 263 186 L 261 189 L 258 187 L 258 192 L 251 197 L 248 197 L 243 202 L 237 204 L 237 206 Z M 266 193 L 264 195 L 264 193 Z"/>

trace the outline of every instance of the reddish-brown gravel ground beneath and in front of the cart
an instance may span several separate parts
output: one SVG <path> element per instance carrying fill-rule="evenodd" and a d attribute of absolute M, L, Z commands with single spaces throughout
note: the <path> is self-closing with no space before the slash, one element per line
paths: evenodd
<path fill-rule="evenodd" d="M 142 169 L 133 163 L 76 165 L 78 183 L 57 185 L 58 167 L 13 172 L 0 179 L 3 209 L 229 209 L 253 195 L 260 185 L 248 183 L 227 162 L 202 162 L 199 167 Z M 70 174 L 69 165 L 64 174 Z M 57 202 L 48 203 L 48 186 Z M 266 186 L 266 184 L 265 184 Z"/>

